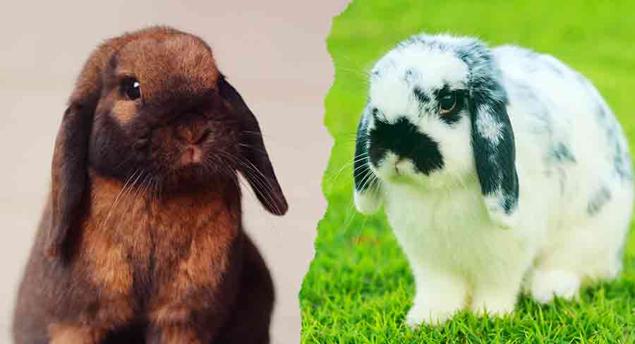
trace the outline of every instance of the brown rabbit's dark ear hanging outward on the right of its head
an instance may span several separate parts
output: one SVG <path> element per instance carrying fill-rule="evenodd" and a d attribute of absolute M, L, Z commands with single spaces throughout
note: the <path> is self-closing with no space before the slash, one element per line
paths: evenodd
<path fill-rule="evenodd" d="M 238 171 L 247 179 L 256 197 L 267 211 L 284 215 L 289 208 L 278 183 L 269 155 L 262 142 L 262 133 L 255 116 L 238 91 L 223 76 L 219 78 L 219 93 L 238 116 L 242 158 Z"/>

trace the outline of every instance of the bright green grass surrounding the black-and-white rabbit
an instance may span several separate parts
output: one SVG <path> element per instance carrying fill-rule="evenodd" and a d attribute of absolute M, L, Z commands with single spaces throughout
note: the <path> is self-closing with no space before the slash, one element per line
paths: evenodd
<path fill-rule="evenodd" d="M 464 312 L 441 327 L 411 331 L 402 324 L 414 291 L 408 262 L 385 216 L 361 216 L 352 202 L 365 75 L 422 30 L 557 56 L 594 82 L 635 142 L 635 1 L 590 2 L 366 0 L 334 18 L 328 49 L 336 74 L 325 123 L 335 145 L 322 184 L 329 205 L 300 295 L 303 343 L 635 343 L 635 235 L 622 278 L 588 286 L 580 302 L 541 306 L 521 297 L 502 319 Z"/>

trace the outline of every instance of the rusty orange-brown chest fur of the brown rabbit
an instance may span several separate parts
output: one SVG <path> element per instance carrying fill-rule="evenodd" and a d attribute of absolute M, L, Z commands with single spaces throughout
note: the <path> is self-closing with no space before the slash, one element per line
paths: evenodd
<path fill-rule="evenodd" d="M 214 290 L 239 257 L 239 199 L 201 190 L 157 201 L 142 191 L 92 177 L 75 269 L 106 298 L 150 307 L 161 302 L 152 297 Z"/>

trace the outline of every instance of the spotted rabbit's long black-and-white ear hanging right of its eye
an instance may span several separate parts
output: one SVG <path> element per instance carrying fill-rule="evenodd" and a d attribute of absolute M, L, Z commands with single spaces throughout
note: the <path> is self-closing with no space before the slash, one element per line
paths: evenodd
<path fill-rule="evenodd" d="M 490 50 L 475 41 L 459 54 L 470 69 L 471 139 L 476 173 L 493 223 L 513 227 L 519 201 L 514 130 L 507 115 L 507 91 Z"/>

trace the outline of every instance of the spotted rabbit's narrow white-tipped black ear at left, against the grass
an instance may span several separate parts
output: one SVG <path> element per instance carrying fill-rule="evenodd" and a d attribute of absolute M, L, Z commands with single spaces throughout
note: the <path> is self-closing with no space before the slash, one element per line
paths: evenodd
<path fill-rule="evenodd" d="M 370 113 L 365 109 L 361 121 L 357 126 L 355 142 L 355 157 L 353 160 L 353 180 L 355 182 L 355 207 L 362 214 L 375 214 L 381 207 L 383 199 L 380 185 L 373 171 L 370 169 L 368 152 L 368 125 Z"/>

